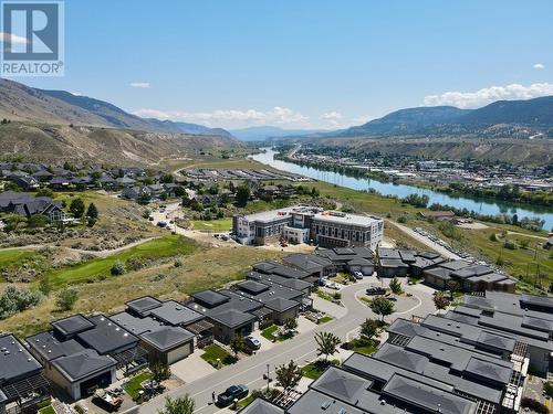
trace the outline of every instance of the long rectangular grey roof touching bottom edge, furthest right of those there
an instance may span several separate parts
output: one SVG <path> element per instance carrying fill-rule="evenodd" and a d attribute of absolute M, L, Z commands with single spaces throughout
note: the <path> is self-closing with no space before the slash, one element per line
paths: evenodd
<path fill-rule="evenodd" d="M 435 413 L 472 414 L 477 410 L 474 402 L 398 374 L 386 383 L 383 393 Z"/>

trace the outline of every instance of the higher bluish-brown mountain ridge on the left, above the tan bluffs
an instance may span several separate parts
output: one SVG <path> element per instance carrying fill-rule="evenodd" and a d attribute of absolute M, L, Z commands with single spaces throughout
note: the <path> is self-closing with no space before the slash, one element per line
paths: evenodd
<path fill-rule="evenodd" d="M 8 79 L 0 79 L 0 116 L 14 120 L 48 124 L 232 137 L 230 132 L 221 128 L 142 118 L 104 100 L 74 95 L 65 91 L 32 88 Z"/>

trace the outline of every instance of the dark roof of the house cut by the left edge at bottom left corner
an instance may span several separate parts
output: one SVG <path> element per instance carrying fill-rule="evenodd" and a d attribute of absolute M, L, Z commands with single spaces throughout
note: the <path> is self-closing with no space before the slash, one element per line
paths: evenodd
<path fill-rule="evenodd" d="M 42 365 L 13 336 L 0 337 L 0 386 L 34 375 Z"/>

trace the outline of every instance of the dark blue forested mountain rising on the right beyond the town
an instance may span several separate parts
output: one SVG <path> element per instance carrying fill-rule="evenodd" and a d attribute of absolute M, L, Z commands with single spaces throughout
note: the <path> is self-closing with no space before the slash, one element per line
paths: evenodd
<path fill-rule="evenodd" d="M 479 109 L 452 106 L 400 109 L 379 119 L 325 137 L 479 136 L 528 138 L 553 136 L 553 96 L 499 100 Z"/>

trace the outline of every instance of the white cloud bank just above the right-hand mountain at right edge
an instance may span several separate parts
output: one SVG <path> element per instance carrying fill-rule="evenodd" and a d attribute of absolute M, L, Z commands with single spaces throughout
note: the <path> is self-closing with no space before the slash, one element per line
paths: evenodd
<path fill-rule="evenodd" d="M 452 105 L 458 108 L 474 108 L 503 99 L 531 99 L 539 96 L 553 95 L 553 84 L 538 83 L 529 86 L 511 84 L 491 86 L 476 92 L 446 92 L 441 95 L 425 97 L 425 105 Z"/>

